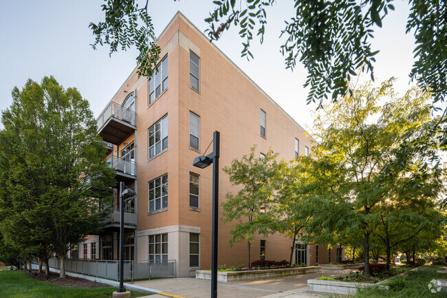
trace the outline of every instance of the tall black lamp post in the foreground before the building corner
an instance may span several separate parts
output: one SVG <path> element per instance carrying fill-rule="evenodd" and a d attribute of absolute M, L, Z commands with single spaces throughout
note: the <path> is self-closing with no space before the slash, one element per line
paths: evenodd
<path fill-rule="evenodd" d="M 212 164 L 212 244 L 211 244 L 211 298 L 217 298 L 217 242 L 219 219 L 219 151 L 220 133 L 212 134 L 212 153 L 207 156 L 198 156 L 194 159 L 194 166 L 204 169 Z"/>

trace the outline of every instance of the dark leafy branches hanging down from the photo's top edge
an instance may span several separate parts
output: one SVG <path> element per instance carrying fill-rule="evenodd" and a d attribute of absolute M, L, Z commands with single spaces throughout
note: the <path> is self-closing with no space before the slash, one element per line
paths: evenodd
<path fill-rule="evenodd" d="M 382 27 L 382 19 L 394 10 L 393 0 L 294 0 L 296 16 L 285 20 L 282 35 L 286 36 L 281 52 L 285 65 L 293 70 L 298 59 L 306 67 L 305 86 L 311 87 L 307 102 L 320 100 L 331 93 L 332 100 L 349 91 L 347 81 L 356 76 L 360 67 L 371 72 L 375 54 L 371 39 L 375 26 Z M 263 36 L 267 28 L 267 12 L 275 0 L 213 1 L 216 8 L 206 19 L 210 41 L 219 39 L 231 26 L 239 28 L 242 56 L 252 58 L 250 44 L 254 35 Z M 445 1 L 411 0 L 406 32 L 414 32 L 416 61 L 411 78 L 424 89 L 433 92 L 434 102 L 443 103 L 447 94 L 447 3 Z M 140 52 L 137 62 L 140 74 L 150 76 L 155 69 L 158 53 L 155 47 L 153 25 L 146 5 L 140 8 L 135 0 L 105 0 L 102 10 L 105 21 L 90 23 L 96 36 L 96 45 L 109 45 L 110 54 L 127 50 L 135 45 Z M 139 22 L 140 21 L 140 22 Z M 142 23 L 143 25 L 140 25 Z M 151 45 L 148 47 L 147 45 Z M 149 50 L 150 49 L 150 50 Z M 149 57 L 148 57 L 149 53 Z M 151 57 L 154 58 L 151 58 Z M 444 113 L 447 109 L 444 109 Z"/>

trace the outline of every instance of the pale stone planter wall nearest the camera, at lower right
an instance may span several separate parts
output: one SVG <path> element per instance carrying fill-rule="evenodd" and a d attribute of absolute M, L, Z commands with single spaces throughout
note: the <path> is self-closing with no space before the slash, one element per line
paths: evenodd
<path fill-rule="evenodd" d="M 369 288 L 378 286 L 384 290 L 388 290 L 388 286 L 382 286 L 378 284 L 368 284 L 364 282 L 349 282 L 349 281 L 332 281 L 321 279 L 309 279 L 307 280 L 307 289 L 314 292 L 329 292 L 331 294 L 353 295 L 357 292 L 358 288 Z"/>

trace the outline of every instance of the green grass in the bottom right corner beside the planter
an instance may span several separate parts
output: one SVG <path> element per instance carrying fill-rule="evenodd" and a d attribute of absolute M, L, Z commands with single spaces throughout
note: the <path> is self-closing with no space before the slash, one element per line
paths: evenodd
<path fill-rule="evenodd" d="M 439 267 L 422 266 L 414 271 L 407 271 L 404 275 L 397 275 L 384 285 L 389 286 L 389 290 L 380 288 L 367 288 L 359 290 L 352 298 L 420 298 L 420 297 L 447 297 L 447 292 L 432 293 L 428 289 L 428 284 L 432 279 L 446 279 L 444 273 L 437 273 Z M 335 296 L 336 297 L 336 296 Z"/>

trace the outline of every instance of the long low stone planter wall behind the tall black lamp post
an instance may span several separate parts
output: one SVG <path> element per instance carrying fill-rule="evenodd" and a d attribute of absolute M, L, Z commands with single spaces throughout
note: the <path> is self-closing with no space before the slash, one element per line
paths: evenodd
<path fill-rule="evenodd" d="M 321 267 L 297 267 L 297 268 L 279 268 L 279 269 L 267 269 L 267 270 L 243 270 L 232 272 L 218 272 L 217 280 L 228 281 L 246 281 L 256 279 L 268 279 L 292 275 L 302 275 L 306 273 L 320 273 Z M 196 279 L 211 279 L 211 271 L 197 270 L 195 272 Z"/>

